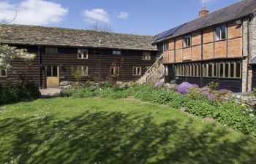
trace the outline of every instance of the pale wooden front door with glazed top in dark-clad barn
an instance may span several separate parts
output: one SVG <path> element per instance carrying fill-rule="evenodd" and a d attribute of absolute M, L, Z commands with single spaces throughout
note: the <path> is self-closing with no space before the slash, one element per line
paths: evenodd
<path fill-rule="evenodd" d="M 47 87 L 59 87 L 59 66 L 46 66 Z"/>

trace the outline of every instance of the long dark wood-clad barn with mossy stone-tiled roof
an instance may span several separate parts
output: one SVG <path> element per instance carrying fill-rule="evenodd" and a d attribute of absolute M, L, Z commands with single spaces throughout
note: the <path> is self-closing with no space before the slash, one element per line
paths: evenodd
<path fill-rule="evenodd" d="M 157 58 L 157 48 L 151 45 L 154 36 L 23 25 L 1 25 L 1 30 L 2 44 L 36 54 L 29 69 L 15 59 L 10 70 L 1 70 L 1 85 L 7 79 L 18 82 L 26 73 L 39 87 L 59 87 L 61 81 L 76 81 L 74 69 L 83 74 L 80 82 L 113 76 L 122 82 L 136 81 Z"/>

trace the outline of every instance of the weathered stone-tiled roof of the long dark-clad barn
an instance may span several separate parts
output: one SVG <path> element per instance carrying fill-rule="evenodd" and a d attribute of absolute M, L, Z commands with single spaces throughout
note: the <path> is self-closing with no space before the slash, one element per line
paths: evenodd
<path fill-rule="evenodd" d="M 154 36 L 43 26 L 0 25 L 0 27 L 3 31 L 0 34 L 1 42 L 6 44 L 157 50 L 151 45 Z M 99 44 L 99 39 L 101 44 Z"/>

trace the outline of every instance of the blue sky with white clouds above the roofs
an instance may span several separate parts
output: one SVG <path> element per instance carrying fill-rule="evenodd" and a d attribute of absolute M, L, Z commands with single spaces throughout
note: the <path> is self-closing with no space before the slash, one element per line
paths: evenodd
<path fill-rule="evenodd" d="M 0 0 L 0 22 L 156 35 L 241 0 Z"/>

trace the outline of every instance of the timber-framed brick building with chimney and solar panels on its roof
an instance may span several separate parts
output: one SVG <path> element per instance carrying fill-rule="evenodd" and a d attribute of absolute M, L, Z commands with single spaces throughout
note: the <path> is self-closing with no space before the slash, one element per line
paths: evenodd
<path fill-rule="evenodd" d="M 256 87 L 256 1 L 244 0 L 158 34 L 165 82 L 207 85 L 245 92 Z"/>

